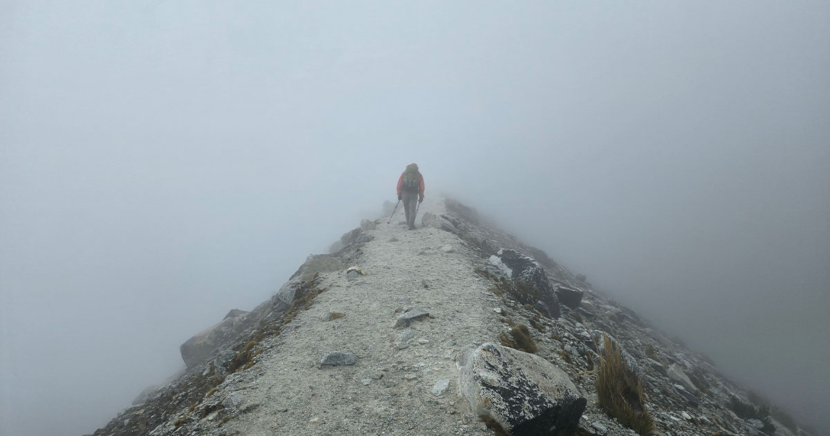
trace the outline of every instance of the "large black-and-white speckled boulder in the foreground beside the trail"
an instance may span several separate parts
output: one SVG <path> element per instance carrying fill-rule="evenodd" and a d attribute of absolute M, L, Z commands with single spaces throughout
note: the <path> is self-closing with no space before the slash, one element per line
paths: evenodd
<path fill-rule="evenodd" d="M 587 404 L 563 370 L 537 355 L 471 344 L 457 365 L 459 389 L 473 411 L 514 436 L 569 434 Z"/>

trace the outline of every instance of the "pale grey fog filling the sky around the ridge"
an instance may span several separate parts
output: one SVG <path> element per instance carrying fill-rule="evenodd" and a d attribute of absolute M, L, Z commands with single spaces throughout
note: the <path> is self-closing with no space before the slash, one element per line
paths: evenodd
<path fill-rule="evenodd" d="M 0 2 L 0 433 L 104 425 L 414 161 L 427 201 L 830 434 L 828 22 L 828 2 Z"/>

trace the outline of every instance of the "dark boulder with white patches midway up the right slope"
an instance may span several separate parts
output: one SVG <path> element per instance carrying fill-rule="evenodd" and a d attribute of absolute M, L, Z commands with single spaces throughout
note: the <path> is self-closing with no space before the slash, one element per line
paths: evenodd
<path fill-rule="evenodd" d="M 533 257 L 522 256 L 515 250 L 501 249 L 490 257 L 490 262 L 515 283 L 512 290 L 515 300 L 533 305 L 551 318 L 559 317 L 559 298 L 544 268 Z"/>

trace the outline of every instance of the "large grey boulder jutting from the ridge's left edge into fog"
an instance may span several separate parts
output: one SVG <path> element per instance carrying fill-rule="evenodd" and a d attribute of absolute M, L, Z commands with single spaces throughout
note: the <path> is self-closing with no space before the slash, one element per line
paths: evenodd
<path fill-rule="evenodd" d="M 182 353 L 182 360 L 188 368 L 201 364 L 223 345 L 228 345 L 232 340 L 245 331 L 251 325 L 251 316 L 247 311 L 234 309 L 230 311 L 225 319 L 207 327 L 197 335 L 185 341 L 178 347 Z"/>

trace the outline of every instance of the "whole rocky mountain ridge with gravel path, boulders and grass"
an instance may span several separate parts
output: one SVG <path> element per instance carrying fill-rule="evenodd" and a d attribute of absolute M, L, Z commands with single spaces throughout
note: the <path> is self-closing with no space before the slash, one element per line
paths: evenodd
<path fill-rule="evenodd" d="M 804 434 L 475 210 L 386 217 L 186 341 L 95 436 Z"/>

